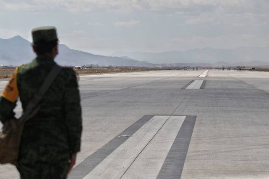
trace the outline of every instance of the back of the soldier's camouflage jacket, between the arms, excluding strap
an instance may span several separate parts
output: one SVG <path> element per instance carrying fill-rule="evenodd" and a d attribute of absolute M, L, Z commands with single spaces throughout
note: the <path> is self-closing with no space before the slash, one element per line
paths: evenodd
<path fill-rule="evenodd" d="M 44 56 L 19 67 L 17 85 L 24 110 L 55 64 L 53 58 Z M 24 171 L 25 165 L 33 165 L 36 172 L 54 164 L 68 167 L 71 149 L 66 124 L 66 95 L 70 94 L 70 89 L 77 89 L 76 75 L 72 69 L 62 68 L 40 101 L 38 112 L 25 123 L 19 150 L 19 170 Z"/>

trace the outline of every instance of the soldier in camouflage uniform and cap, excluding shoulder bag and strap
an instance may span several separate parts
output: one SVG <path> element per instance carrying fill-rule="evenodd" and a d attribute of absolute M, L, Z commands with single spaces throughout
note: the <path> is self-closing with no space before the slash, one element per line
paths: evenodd
<path fill-rule="evenodd" d="M 16 68 L 0 98 L 0 120 L 13 118 L 17 98 L 25 108 L 39 89 L 58 54 L 55 27 L 32 30 L 37 57 Z M 17 169 L 21 179 L 64 179 L 80 151 L 82 119 L 74 70 L 62 68 L 40 101 L 40 109 L 24 126 Z"/>

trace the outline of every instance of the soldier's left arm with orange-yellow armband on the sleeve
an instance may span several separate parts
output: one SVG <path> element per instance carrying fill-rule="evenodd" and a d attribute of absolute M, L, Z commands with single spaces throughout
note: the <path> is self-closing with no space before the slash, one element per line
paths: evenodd
<path fill-rule="evenodd" d="M 16 101 L 19 96 L 19 90 L 17 87 L 17 73 L 19 67 L 17 67 L 7 83 L 5 89 L 1 93 L 0 97 L 0 121 L 4 124 L 7 120 L 14 118 L 15 113 L 13 109 L 16 107 Z"/>

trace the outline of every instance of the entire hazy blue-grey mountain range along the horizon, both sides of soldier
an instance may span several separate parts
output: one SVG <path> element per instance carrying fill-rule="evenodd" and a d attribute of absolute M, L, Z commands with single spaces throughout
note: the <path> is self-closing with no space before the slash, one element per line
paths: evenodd
<path fill-rule="evenodd" d="M 31 61 L 31 42 L 15 36 L 0 38 L 0 66 L 16 66 Z M 56 62 L 60 65 L 82 66 L 137 66 L 137 67 L 184 67 L 184 66 L 262 66 L 269 65 L 268 47 L 239 47 L 236 49 L 192 49 L 163 53 L 116 52 L 111 56 L 94 55 L 59 44 Z"/>

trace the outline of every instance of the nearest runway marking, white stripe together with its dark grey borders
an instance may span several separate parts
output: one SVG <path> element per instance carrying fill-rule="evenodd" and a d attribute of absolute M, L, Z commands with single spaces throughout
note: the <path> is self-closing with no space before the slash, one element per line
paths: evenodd
<path fill-rule="evenodd" d="M 183 162 L 182 167 L 177 168 L 182 171 L 195 119 L 196 116 L 144 116 L 117 135 L 130 137 L 112 139 L 76 166 L 68 178 L 168 178 L 170 174 L 165 171 L 167 156 L 179 158 L 174 164 Z M 183 125 L 187 130 L 183 129 Z M 132 132 L 129 132 L 130 129 Z M 179 147 L 178 150 L 176 147 Z M 174 150 L 181 152 L 175 153 Z M 173 176 L 177 174 L 173 171 Z"/>

